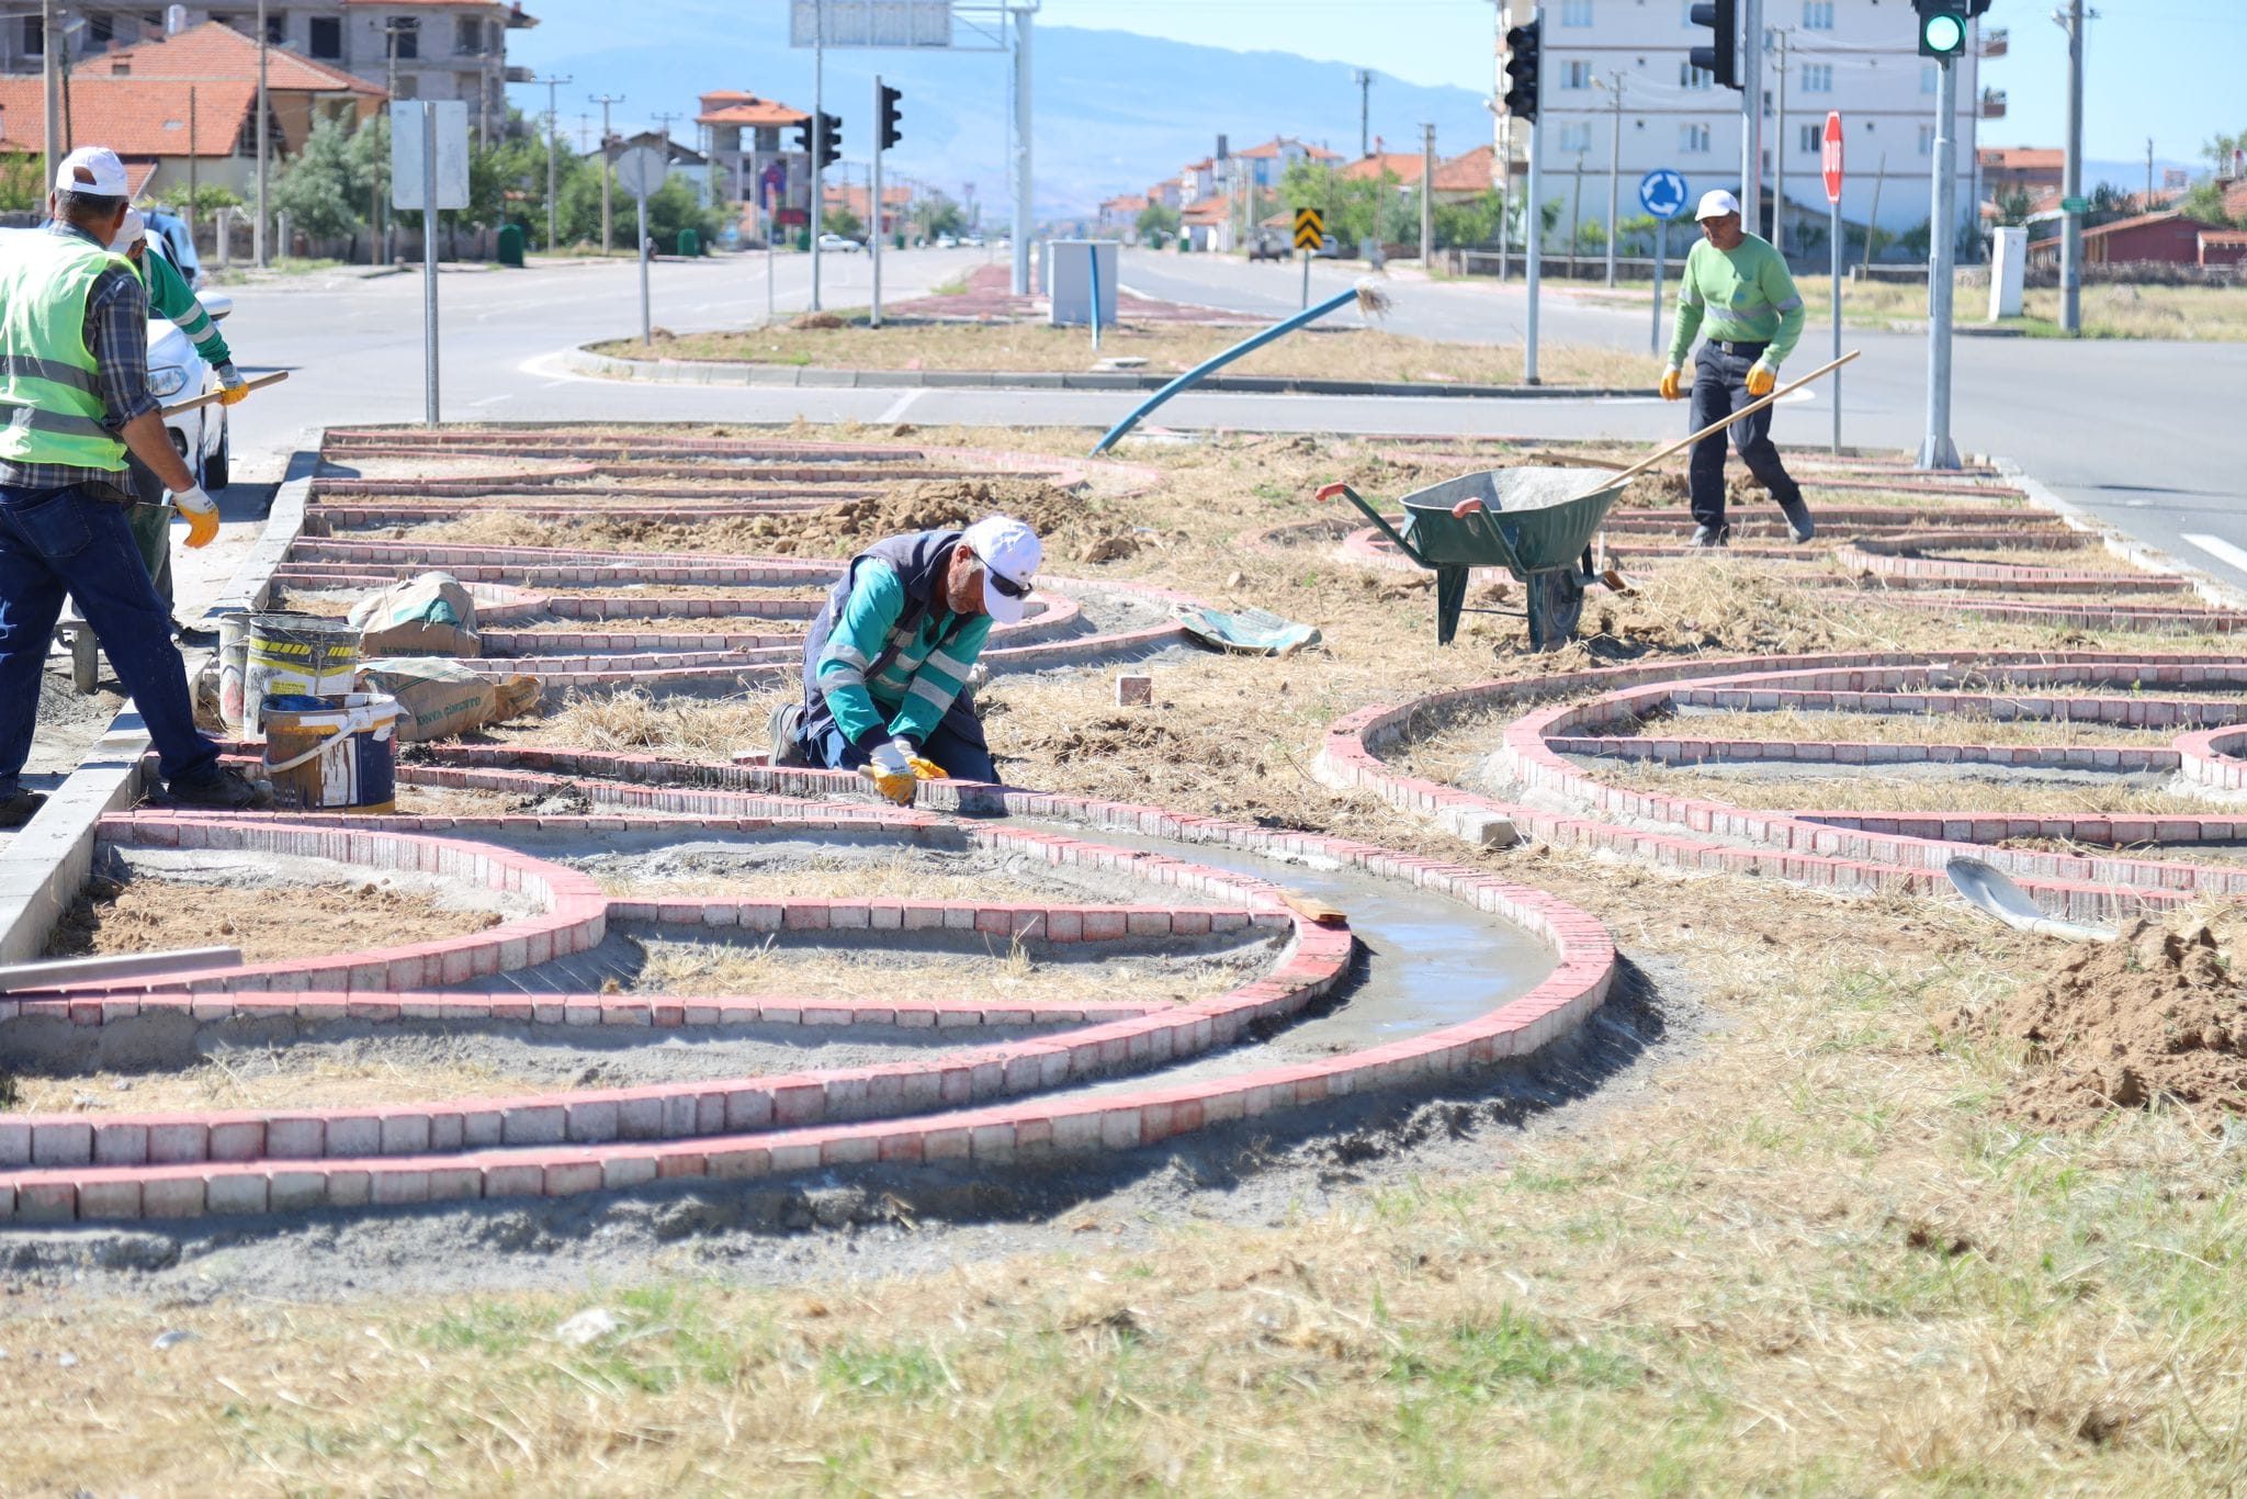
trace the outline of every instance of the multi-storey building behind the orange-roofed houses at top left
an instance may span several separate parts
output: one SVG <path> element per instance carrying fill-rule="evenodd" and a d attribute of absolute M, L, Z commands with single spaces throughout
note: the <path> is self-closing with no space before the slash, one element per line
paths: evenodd
<path fill-rule="evenodd" d="M 63 11 L 65 7 L 56 7 Z M 58 20 L 65 63 L 106 56 L 119 47 L 157 43 L 166 9 L 182 29 L 218 20 L 256 36 L 256 0 L 202 4 L 70 4 Z M 506 128 L 508 83 L 528 83 L 530 70 L 508 67 L 508 31 L 535 27 L 521 0 L 267 0 L 265 40 L 312 63 L 380 85 L 393 99 L 461 99 L 479 139 Z M 0 72 L 45 67 L 38 9 L 0 18 Z"/>

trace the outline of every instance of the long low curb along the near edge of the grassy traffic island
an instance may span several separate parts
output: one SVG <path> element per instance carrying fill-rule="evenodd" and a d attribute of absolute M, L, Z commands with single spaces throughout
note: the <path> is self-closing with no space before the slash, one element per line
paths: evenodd
<path fill-rule="evenodd" d="M 591 348 L 562 353 L 564 369 L 600 380 L 647 384 L 739 384 L 757 389 L 813 391 L 1159 391 L 1171 375 L 1128 371 L 955 371 L 955 369 L 813 369 L 793 364 L 685 364 L 618 360 Z M 1416 384 L 1407 380 L 1306 380 L 1285 375 L 1211 375 L 1193 387 L 1234 396 L 1447 396 L 1483 400 L 1616 400 L 1654 396 L 1654 387 L 1607 384 Z"/>

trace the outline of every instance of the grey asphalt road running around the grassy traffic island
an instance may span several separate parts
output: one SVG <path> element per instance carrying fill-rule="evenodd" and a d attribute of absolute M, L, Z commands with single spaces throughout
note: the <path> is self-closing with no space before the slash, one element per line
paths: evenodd
<path fill-rule="evenodd" d="M 986 263 L 993 252 L 885 256 L 885 294 L 910 297 Z M 825 258 L 825 303 L 865 306 L 867 256 Z M 1337 292 L 1353 272 L 1314 265 L 1312 294 Z M 1220 256 L 1126 252 L 1121 281 L 1180 301 L 1279 317 L 1301 301 L 1294 265 Z M 573 375 L 560 351 L 629 335 L 638 326 L 631 265 L 551 263 L 521 272 L 445 272 L 445 420 L 865 420 L 1106 427 L 1132 398 L 1090 391 L 795 391 L 620 384 Z M 1526 321 L 1519 285 L 1389 283 L 1389 326 L 1438 339 L 1517 342 Z M 809 306 L 809 261 L 777 256 L 771 281 L 759 254 L 667 261 L 652 272 L 654 321 L 697 330 L 753 326 L 766 306 Z M 400 423 L 422 416 L 422 276 L 306 276 L 236 288 L 227 337 L 249 371 L 290 369 L 292 380 L 236 407 L 245 476 L 321 425 Z M 1350 317 L 1350 315 L 1344 315 Z M 1548 292 L 1548 344 L 1598 342 L 1647 348 L 1647 308 L 1598 306 Z M 1831 333 L 1811 326 L 1793 369 L 1809 369 Z M 1847 443 L 1917 449 L 1926 418 L 1926 339 L 1849 330 L 1863 348 L 1840 387 Z M 1088 351 L 1090 362 L 1090 351 Z M 1964 452 L 2013 458 L 2065 499 L 2184 562 L 2247 587 L 2247 479 L 2231 427 L 2247 391 L 2247 344 L 2123 344 L 1957 339 L 1953 434 Z M 1782 445 L 1825 443 L 1831 393 L 1784 405 Z M 1164 407 L 1173 427 L 1281 431 L 1456 431 L 1488 436 L 1683 434 L 1685 411 L 1654 398 L 1458 400 L 1182 396 Z M 236 510 L 227 506 L 229 515 Z M 2200 537 L 2189 539 L 2189 537 Z"/>

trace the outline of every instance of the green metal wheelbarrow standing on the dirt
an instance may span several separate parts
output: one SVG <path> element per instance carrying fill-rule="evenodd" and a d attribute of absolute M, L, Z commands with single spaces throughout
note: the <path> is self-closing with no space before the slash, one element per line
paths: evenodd
<path fill-rule="evenodd" d="M 1402 526 L 1346 483 L 1326 485 L 1319 499 L 1348 499 L 1398 551 L 1436 573 L 1436 645 L 1452 643 L 1461 614 L 1514 614 L 1467 609 L 1472 571 L 1503 566 L 1528 600 L 1530 649 L 1546 652 L 1575 638 L 1584 587 L 1609 582 L 1593 571 L 1591 537 L 1625 483 L 1616 474 L 1586 490 L 1580 467 L 1490 467 L 1413 490 Z"/>

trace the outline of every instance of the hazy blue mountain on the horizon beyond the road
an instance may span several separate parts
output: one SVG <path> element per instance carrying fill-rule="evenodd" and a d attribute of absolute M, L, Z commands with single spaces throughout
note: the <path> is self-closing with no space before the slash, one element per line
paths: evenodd
<path fill-rule="evenodd" d="M 508 61 L 568 74 L 564 130 L 600 110 L 589 94 L 622 94 L 618 128 L 636 130 L 661 112 L 681 142 L 692 139 L 697 94 L 737 88 L 811 108 L 811 52 L 789 47 L 784 4 L 742 0 L 542 0 L 539 25 L 508 38 Z M 620 22 L 629 16 L 629 22 Z M 1279 22 L 1283 11 L 1274 11 Z M 1274 31 L 1283 31 L 1276 25 Z M 1227 52 L 1079 27 L 1031 34 L 1031 146 L 1040 218 L 1088 214 L 1103 198 L 1135 193 L 1211 153 L 1218 135 L 1254 146 L 1294 135 L 1344 155 L 1357 153 L 1357 85 L 1344 63 L 1288 52 Z M 975 184 L 986 220 L 1004 218 L 1007 115 L 1013 74 L 995 52 L 829 49 L 825 106 L 843 117 L 843 157 L 865 171 L 874 74 L 906 92 L 903 144 L 888 164 L 953 196 Z M 546 108 L 546 90 L 517 85 L 524 112 Z M 1490 144 L 1483 97 L 1465 88 L 1422 88 L 1373 79 L 1373 133 L 1391 151 L 1413 151 L 1420 124 L 1434 121 L 1436 148 L 1456 155 Z"/>

